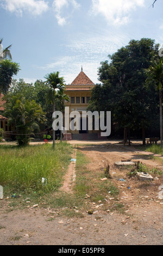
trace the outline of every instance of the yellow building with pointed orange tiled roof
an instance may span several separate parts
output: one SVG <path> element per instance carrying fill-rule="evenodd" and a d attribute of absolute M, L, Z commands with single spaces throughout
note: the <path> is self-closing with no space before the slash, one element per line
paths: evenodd
<path fill-rule="evenodd" d="M 100 138 L 99 131 L 83 129 L 82 126 L 82 111 L 86 111 L 91 98 L 91 89 L 95 87 L 89 77 L 83 72 L 83 68 L 79 75 L 73 80 L 71 84 L 66 85 L 66 94 L 69 96 L 70 101 L 65 102 L 65 106 L 69 107 L 70 113 L 78 111 L 80 113 L 79 130 L 69 130 L 67 135 L 64 135 L 64 139 L 98 139 Z M 69 119 L 69 122 L 73 118 Z M 87 119 L 86 119 L 87 122 Z"/>

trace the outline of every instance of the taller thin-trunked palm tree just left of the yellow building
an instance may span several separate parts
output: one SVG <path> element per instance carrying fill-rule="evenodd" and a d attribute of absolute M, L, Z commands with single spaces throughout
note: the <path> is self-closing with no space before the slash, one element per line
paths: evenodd
<path fill-rule="evenodd" d="M 47 95 L 47 101 L 53 104 L 53 113 L 55 112 L 55 97 L 57 91 L 64 91 L 64 77 L 59 77 L 59 72 L 53 72 L 51 74 L 47 74 L 44 78 L 46 78 L 45 84 L 47 84 L 51 90 Z M 53 118 L 54 121 L 54 118 Z M 55 148 L 55 130 L 53 129 L 53 148 Z"/>

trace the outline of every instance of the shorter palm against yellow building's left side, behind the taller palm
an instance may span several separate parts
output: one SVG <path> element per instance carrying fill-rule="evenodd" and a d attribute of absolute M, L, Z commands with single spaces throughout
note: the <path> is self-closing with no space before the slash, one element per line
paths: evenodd
<path fill-rule="evenodd" d="M 69 97 L 67 94 L 64 94 L 64 91 L 58 90 L 56 94 L 56 107 L 59 111 L 64 112 L 65 109 L 65 100 L 69 101 Z M 62 130 L 60 131 L 60 141 L 62 142 Z"/>

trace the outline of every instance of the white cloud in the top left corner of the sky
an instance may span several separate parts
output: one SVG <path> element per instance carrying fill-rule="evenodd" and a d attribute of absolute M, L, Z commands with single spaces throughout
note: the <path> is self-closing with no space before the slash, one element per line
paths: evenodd
<path fill-rule="evenodd" d="M 23 11 L 28 11 L 33 15 L 41 15 L 48 10 L 48 3 L 44 0 L 2 0 L 1 6 L 10 11 L 22 16 Z"/>

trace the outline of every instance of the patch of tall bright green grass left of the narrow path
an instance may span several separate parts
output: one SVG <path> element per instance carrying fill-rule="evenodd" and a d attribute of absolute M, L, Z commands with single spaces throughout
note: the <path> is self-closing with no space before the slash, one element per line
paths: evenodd
<path fill-rule="evenodd" d="M 70 163 L 72 147 L 67 143 L 0 146 L 0 185 L 15 191 L 56 190 Z M 42 178 L 46 184 L 42 184 Z"/>

